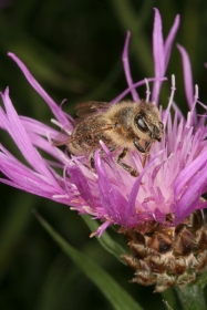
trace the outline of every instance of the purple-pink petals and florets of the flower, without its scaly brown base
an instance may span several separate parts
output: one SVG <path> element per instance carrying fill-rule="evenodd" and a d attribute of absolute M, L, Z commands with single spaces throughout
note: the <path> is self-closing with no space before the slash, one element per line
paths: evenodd
<path fill-rule="evenodd" d="M 162 34 L 162 20 L 155 9 L 153 31 L 153 56 L 155 78 L 151 101 L 158 105 L 162 81 L 167 69 L 173 41 L 179 25 L 176 17 L 167 39 Z M 131 92 L 135 102 L 139 100 L 128 64 L 127 33 L 123 62 L 128 89 L 112 102 L 120 101 Z M 127 163 L 139 172 L 137 178 L 131 176 L 117 163 L 116 157 L 100 142 L 95 152 L 95 172 L 85 164 L 84 156 L 69 155 L 51 144 L 60 135 L 59 130 L 49 127 L 35 120 L 19 116 L 9 97 L 9 89 L 1 93 L 4 110 L 0 107 L 0 127 L 7 131 L 29 166 L 19 162 L 0 145 L 0 170 L 6 178 L 2 183 L 25 192 L 69 205 L 80 214 L 90 214 L 101 219 L 102 226 L 96 231 L 101 235 L 107 226 L 120 225 L 133 228 L 149 220 L 166 225 L 182 223 L 195 209 L 204 209 L 207 203 L 201 196 L 207 192 L 207 131 L 205 117 L 196 115 L 197 93 L 194 97 L 190 64 L 184 48 L 178 45 L 184 66 L 186 99 L 189 105 L 187 120 L 174 103 L 175 82 L 173 79 L 168 107 L 163 111 L 164 136 L 161 143 L 154 143 L 147 164 L 142 166 L 142 156 L 130 153 Z M 43 97 L 55 116 L 55 123 L 73 130 L 73 120 L 45 93 L 24 64 L 9 53 L 22 70 L 32 87 Z M 149 95 L 149 94 L 147 94 Z M 170 115 L 174 108 L 174 118 Z M 66 148 L 66 146 L 65 146 Z M 43 149 L 53 157 L 53 162 L 43 158 L 38 149 Z M 61 168 L 58 174 L 55 167 Z M 170 223 L 168 220 L 170 215 Z"/>

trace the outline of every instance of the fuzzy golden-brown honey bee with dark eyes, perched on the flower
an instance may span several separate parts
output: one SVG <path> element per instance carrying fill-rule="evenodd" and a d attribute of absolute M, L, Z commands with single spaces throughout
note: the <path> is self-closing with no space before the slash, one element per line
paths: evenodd
<path fill-rule="evenodd" d="M 143 155 L 143 166 L 145 165 L 151 145 L 161 141 L 163 135 L 158 108 L 144 100 L 122 101 L 116 104 L 84 102 L 75 108 L 79 118 L 68 140 L 70 153 L 89 156 L 93 167 L 93 154 L 100 148 L 100 141 L 103 141 L 112 152 L 122 148 L 117 164 L 132 176 L 138 176 L 138 172 L 122 159 L 128 151 L 136 149 Z"/>

